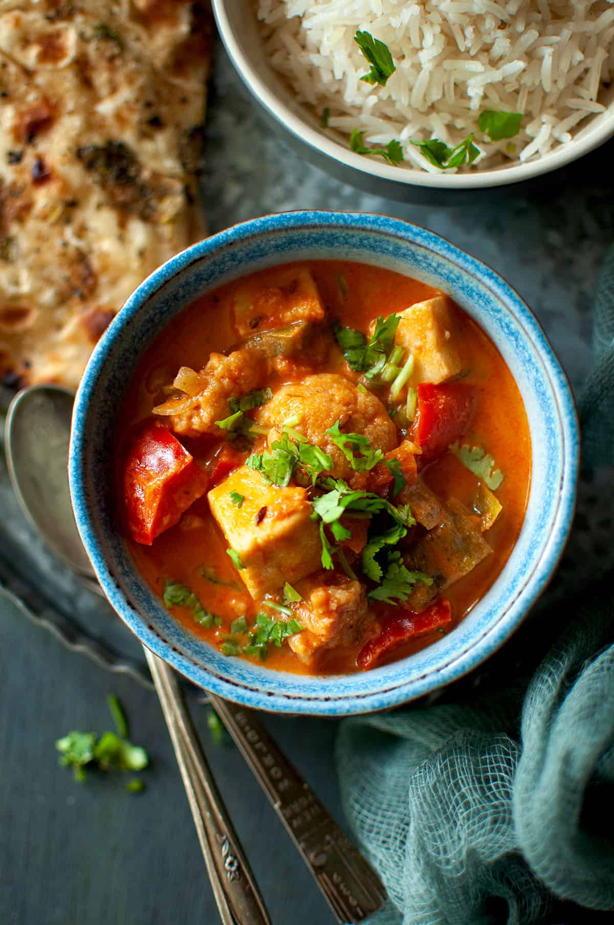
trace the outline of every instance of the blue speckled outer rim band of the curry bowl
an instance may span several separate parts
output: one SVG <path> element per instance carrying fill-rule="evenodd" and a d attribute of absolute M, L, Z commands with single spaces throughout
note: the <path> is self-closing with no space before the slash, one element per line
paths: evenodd
<path fill-rule="evenodd" d="M 147 623 L 146 617 L 141 615 L 129 603 L 104 560 L 104 556 L 98 547 L 96 531 L 88 506 L 88 492 L 83 478 L 84 467 L 82 465 L 85 450 L 85 430 L 81 424 L 87 418 L 92 395 L 97 388 L 99 378 L 104 372 L 106 351 L 117 339 L 117 336 L 129 326 L 132 317 L 141 310 L 141 306 L 157 290 L 161 289 L 178 272 L 187 270 L 190 265 L 201 261 L 205 257 L 214 256 L 215 253 L 221 253 L 249 238 L 279 231 L 291 231 L 293 229 L 305 231 L 309 228 L 325 227 L 354 229 L 359 232 L 369 232 L 377 235 L 383 234 L 417 244 L 457 265 L 461 270 L 478 279 L 498 299 L 510 305 L 517 324 L 533 342 L 539 353 L 540 360 L 544 364 L 546 376 L 555 398 L 555 410 L 559 433 L 561 434 L 562 460 L 559 503 L 556 512 L 552 516 L 550 537 L 539 560 L 535 562 L 534 568 L 527 574 L 523 585 L 518 589 L 514 598 L 510 599 L 505 611 L 498 616 L 497 621 L 491 623 L 481 635 L 432 671 L 424 672 L 418 677 L 410 678 L 401 683 L 396 682 L 389 686 L 383 682 L 377 691 L 364 695 L 353 693 L 338 697 L 274 693 L 261 687 L 229 680 L 204 668 L 197 661 L 191 659 L 190 656 L 179 652 L 169 641 L 164 639 L 151 624 Z M 280 263 L 283 263 L 283 261 L 280 261 Z M 104 594 L 124 623 L 141 639 L 141 642 L 147 648 L 150 648 L 155 655 L 166 660 L 195 685 L 203 687 L 205 690 L 211 690 L 220 697 L 244 704 L 247 707 L 272 712 L 340 717 L 398 707 L 417 697 L 423 697 L 439 687 L 458 681 L 463 675 L 471 672 L 496 652 L 512 635 L 530 611 L 536 598 L 546 588 L 565 548 L 575 507 L 579 462 L 579 425 L 567 376 L 563 372 L 546 338 L 546 334 L 534 314 L 526 302 L 523 302 L 521 296 L 502 277 L 489 266 L 470 254 L 461 251 L 460 248 L 448 240 L 411 222 L 406 222 L 399 218 L 365 213 L 304 210 L 262 216 L 220 231 L 211 238 L 199 241 L 186 250 L 177 253 L 143 280 L 141 285 L 129 296 L 121 311 L 106 329 L 94 351 L 92 351 L 90 362 L 81 379 L 73 411 L 68 478 L 75 520 Z M 279 672 L 272 673 L 277 674 Z"/>

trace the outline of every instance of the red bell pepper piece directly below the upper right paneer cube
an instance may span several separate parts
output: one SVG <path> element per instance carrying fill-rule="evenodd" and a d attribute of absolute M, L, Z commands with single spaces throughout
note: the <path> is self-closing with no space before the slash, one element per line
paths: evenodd
<path fill-rule="evenodd" d="M 467 431 L 475 413 L 473 386 L 463 382 L 423 382 L 416 388 L 416 418 L 411 436 L 422 450 L 419 465 L 433 462 Z"/>

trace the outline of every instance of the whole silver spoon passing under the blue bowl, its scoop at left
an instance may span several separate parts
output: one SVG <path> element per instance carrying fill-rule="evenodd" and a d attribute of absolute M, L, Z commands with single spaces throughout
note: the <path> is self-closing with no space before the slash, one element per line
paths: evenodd
<path fill-rule="evenodd" d="M 80 541 L 68 490 L 73 396 L 57 386 L 20 392 L 6 414 L 6 460 L 18 500 L 56 555 L 102 594 Z M 264 900 L 227 815 L 177 676 L 143 646 L 175 749 L 204 861 L 224 925 L 270 925 Z"/>

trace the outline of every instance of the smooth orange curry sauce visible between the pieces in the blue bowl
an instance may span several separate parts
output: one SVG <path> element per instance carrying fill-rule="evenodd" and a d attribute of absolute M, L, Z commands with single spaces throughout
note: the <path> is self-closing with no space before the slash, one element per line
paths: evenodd
<path fill-rule="evenodd" d="M 415 279 L 375 266 L 340 261 L 312 261 L 303 266 L 311 270 L 330 318 L 338 318 L 343 327 L 358 328 L 365 333 L 378 315 L 386 317 L 401 312 L 414 302 L 439 294 Z M 276 271 L 277 268 L 273 267 L 254 276 L 259 277 L 264 285 L 275 286 Z M 341 276 L 347 289 L 339 286 Z M 120 464 L 134 425 L 147 418 L 154 405 L 164 401 L 160 388 L 172 382 L 178 368 L 190 366 L 200 370 L 206 364 L 210 351 L 228 351 L 237 343 L 230 306 L 233 291 L 246 278 L 221 287 L 191 304 L 148 349 L 132 376 L 119 414 Z M 485 447 L 505 478 L 497 490 L 497 499 L 503 510 L 485 534 L 493 555 L 443 592 L 452 604 L 453 617 L 449 629 L 484 597 L 508 560 L 522 527 L 531 475 L 529 428 L 522 398 L 510 370 L 482 329 L 458 306 L 453 305 L 452 312 L 452 335 L 461 354 L 463 371 L 467 371 L 463 382 L 471 383 L 478 394 L 473 425 L 462 442 Z M 329 362 L 315 372 L 345 373 L 348 366 L 340 352 L 334 350 Z M 289 377 L 286 376 L 284 381 L 289 381 Z M 272 376 L 269 384 L 275 392 L 282 380 Z M 224 434 L 220 433 L 220 439 L 223 438 Z M 220 443 L 211 437 L 180 440 L 196 462 L 205 466 L 211 462 Z M 420 477 L 442 500 L 454 497 L 471 509 L 476 478 L 450 453 L 428 466 Z M 121 499 L 121 490 L 118 493 Z M 123 511 L 123 499 L 118 506 Z M 120 520 L 124 522 L 123 513 L 120 513 Z M 171 578 L 189 586 L 200 598 L 203 608 L 223 619 L 220 628 L 205 629 L 194 623 L 191 611 L 174 608 L 176 619 L 191 633 L 218 646 L 238 615 L 246 615 L 248 623 L 253 623 L 256 605 L 242 586 L 240 573 L 227 556 L 227 541 L 209 512 L 206 495 L 194 502 L 178 524 L 157 536 L 152 546 L 143 546 L 129 536 L 127 543 L 137 568 L 158 596 L 163 595 L 166 578 Z M 227 582 L 227 585 L 214 584 L 203 577 L 203 567 L 212 566 L 219 580 Z M 387 660 L 404 657 L 440 638 L 435 630 L 418 635 L 396 648 Z M 303 664 L 285 643 L 281 648 L 269 648 L 265 665 L 296 673 L 355 672 L 358 670 L 356 656 L 359 648 L 331 649 L 314 670 Z M 258 659 L 254 661 L 261 663 Z"/>

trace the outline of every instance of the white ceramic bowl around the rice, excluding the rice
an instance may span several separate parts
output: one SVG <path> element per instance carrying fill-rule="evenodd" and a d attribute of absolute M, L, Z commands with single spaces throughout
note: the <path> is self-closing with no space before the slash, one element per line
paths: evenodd
<path fill-rule="evenodd" d="M 306 160 L 321 166 L 338 179 L 369 192 L 394 199 L 428 200 L 439 191 L 438 202 L 452 201 L 450 194 L 492 191 L 510 184 L 527 183 L 571 164 L 614 136 L 614 84 L 604 93 L 605 113 L 589 118 L 571 142 L 524 164 L 474 168 L 467 173 L 431 174 L 410 166 L 391 166 L 375 157 L 350 149 L 349 142 L 331 129 L 320 127 L 318 118 L 296 102 L 284 80 L 264 56 L 260 26 L 253 0 L 213 0 L 217 28 L 241 80 L 263 107 L 269 121 L 282 129 L 286 140 Z M 442 193 L 448 196 L 442 198 Z"/>

